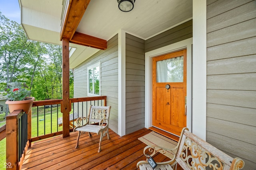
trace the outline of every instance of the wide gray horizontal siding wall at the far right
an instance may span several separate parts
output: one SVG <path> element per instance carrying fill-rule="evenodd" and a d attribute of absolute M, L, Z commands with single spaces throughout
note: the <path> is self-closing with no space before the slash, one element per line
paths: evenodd
<path fill-rule="evenodd" d="M 256 0 L 207 1 L 206 141 L 256 167 Z"/>

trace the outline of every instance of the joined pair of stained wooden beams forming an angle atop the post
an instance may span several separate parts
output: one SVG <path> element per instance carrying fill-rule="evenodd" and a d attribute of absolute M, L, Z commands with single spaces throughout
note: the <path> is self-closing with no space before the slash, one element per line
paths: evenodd
<path fill-rule="evenodd" d="M 106 49 L 106 40 L 76 32 L 76 28 L 78 27 L 89 2 L 90 0 L 70 0 L 69 3 L 67 3 L 64 22 L 62 22 L 60 40 L 66 38 L 70 43 L 98 49 Z"/>

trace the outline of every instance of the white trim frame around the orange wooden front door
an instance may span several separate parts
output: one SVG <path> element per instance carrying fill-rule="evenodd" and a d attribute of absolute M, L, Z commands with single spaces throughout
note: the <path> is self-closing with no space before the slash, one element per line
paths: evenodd
<path fill-rule="evenodd" d="M 192 127 L 192 42 L 189 38 L 145 53 L 145 127 L 152 127 L 152 58 L 187 49 L 187 127 Z"/>

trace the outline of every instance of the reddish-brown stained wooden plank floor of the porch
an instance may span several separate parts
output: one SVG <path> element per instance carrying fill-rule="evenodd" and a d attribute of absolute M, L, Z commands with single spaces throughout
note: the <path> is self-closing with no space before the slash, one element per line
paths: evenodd
<path fill-rule="evenodd" d="M 132 134 L 118 136 L 110 130 L 110 139 L 105 136 L 102 140 L 101 152 L 98 153 L 100 135 L 88 133 L 80 136 L 79 148 L 75 149 L 77 132 L 70 133 L 70 137 L 56 136 L 32 143 L 28 149 L 22 165 L 22 170 L 32 169 L 63 169 L 63 170 L 104 170 L 127 169 L 136 170 L 136 164 L 145 160 L 143 148 L 146 144 L 138 138 L 151 132 L 146 128 Z M 158 154 L 157 161 L 165 161 L 166 157 Z"/>

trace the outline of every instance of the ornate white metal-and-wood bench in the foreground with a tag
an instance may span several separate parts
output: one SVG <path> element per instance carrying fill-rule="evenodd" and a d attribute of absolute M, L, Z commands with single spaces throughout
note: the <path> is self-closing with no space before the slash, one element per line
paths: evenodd
<path fill-rule="evenodd" d="M 232 158 L 218 148 L 202 140 L 195 134 L 183 128 L 178 145 L 173 149 L 161 148 L 160 146 L 146 146 L 144 155 L 148 156 L 148 150 L 153 156 L 157 152 L 174 152 L 174 158 L 166 162 L 157 162 L 155 170 L 239 170 L 244 167 L 244 161 L 240 158 Z M 148 156 L 149 157 L 149 156 Z M 140 170 L 153 170 L 147 160 L 138 162 Z M 179 167 L 180 166 L 180 167 Z"/>

